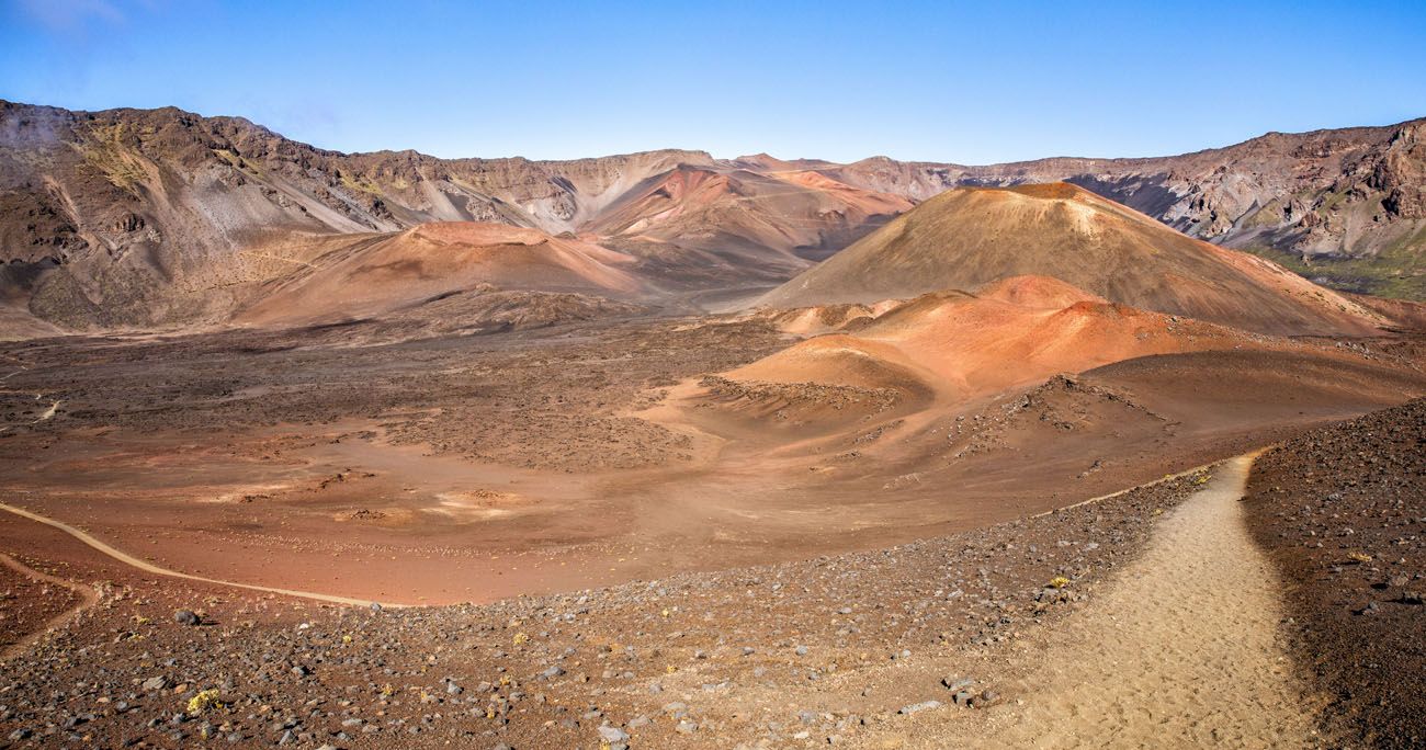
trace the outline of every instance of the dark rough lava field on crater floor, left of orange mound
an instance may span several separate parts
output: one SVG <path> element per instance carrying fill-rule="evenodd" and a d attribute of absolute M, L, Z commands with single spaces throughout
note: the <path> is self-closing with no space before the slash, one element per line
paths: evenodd
<path fill-rule="evenodd" d="M 64 426 L 238 436 L 277 425 L 382 419 L 392 442 L 512 466 L 588 472 L 687 458 L 689 439 L 617 416 L 640 396 L 786 345 L 766 321 L 566 322 L 520 338 L 462 335 L 352 346 L 378 324 L 154 339 L 0 344 L 0 461 Z M 328 338 L 324 338 L 327 331 Z M 37 421 L 54 402 L 61 421 Z M 222 425 L 221 429 L 215 425 Z M 488 429 L 499 425 L 501 429 Z M 24 439 L 17 439 L 24 438 Z"/>

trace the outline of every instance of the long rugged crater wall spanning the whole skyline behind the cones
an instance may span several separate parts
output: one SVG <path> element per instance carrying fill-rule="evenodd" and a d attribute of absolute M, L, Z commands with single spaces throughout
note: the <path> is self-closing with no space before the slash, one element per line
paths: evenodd
<path fill-rule="evenodd" d="M 222 322 L 292 271 L 284 247 L 432 221 L 578 234 L 635 257 L 663 289 L 769 284 L 947 188 L 1054 180 L 1329 285 L 1426 298 L 1423 128 L 991 167 L 676 150 L 441 160 L 341 154 L 175 108 L 0 101 L 0 317 L 68 329 Z"/>

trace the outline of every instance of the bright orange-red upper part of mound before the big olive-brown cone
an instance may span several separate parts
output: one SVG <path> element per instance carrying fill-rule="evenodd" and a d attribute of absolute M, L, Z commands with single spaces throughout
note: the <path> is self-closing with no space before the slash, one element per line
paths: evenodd
<path fill-rule="evenodd" d="M 944 399 L 964 401 L 1055 372 L 1245 345 L 1288 344 L 1115 305 L 1052 278 L 1015 277 L 975 295 L 920 297 L 854 334 L 804 341 L 727 376 L 934 391 Z"/>

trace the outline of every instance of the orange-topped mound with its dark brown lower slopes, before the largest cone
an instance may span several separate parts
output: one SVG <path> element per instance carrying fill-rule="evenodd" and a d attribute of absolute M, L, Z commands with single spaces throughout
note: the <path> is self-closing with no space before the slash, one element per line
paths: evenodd
<path fill-rule="evenodd" d="M 1142 481 L 1132 466 L 1164 451 L 1205 462 L 1293 425 L 1397 404 L 1420 389 L 1410 356 L 1017 277 L 878 317 L 868 308 L 846 332 L 687 381 L 645 416 L 727 441 L 730 465 L 809 472 L 809 498 L 863 492 L 888 518 L 954 526 L 1025 508 L 1027 493 L 1064 499 L 1108 476 Z"/>

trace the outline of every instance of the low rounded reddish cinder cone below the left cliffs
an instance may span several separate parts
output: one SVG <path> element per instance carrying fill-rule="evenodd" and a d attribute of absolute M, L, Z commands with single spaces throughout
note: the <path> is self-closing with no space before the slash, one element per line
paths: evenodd
<path fill-rule="evenodd" d="M 364 235 L 305 268 L 270 282 L 238 314 L 250 325 L 331 322 L 375 317 L 441 295 L 496 287 L 647 295 L 635 260 L 582 240 L 481 222 L 436 222 L 389 235 Z"/>

